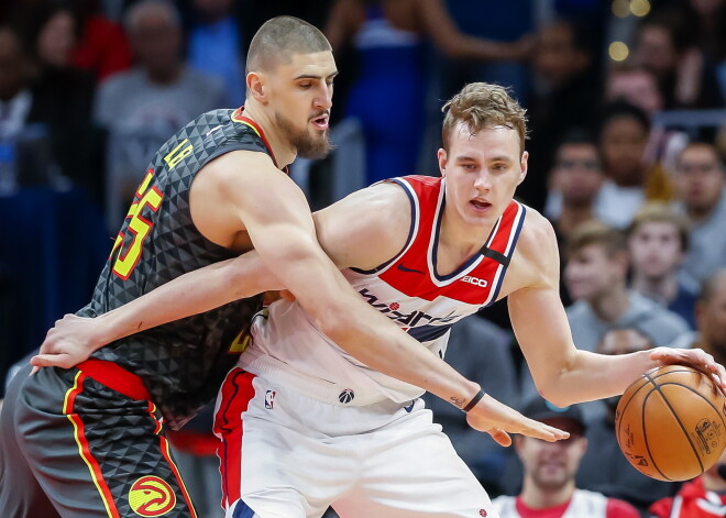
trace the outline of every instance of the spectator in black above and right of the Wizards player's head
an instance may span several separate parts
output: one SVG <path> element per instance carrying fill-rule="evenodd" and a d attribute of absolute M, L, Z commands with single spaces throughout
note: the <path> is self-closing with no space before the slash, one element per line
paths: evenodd
<path fill-rule="evenodd" d="M 529 97 L 530 170 L 518 196 L 535 209 L 544 207 L 554 150 L 572 128 L 592 128 L 600 99 L 586 29 L 558 20 L 543 27 L 534 53 L 535 91 Z"/>

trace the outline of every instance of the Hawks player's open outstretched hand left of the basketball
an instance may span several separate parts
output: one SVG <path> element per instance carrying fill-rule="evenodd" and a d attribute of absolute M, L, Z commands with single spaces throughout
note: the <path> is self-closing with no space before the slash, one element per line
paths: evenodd
<path fill-rule="evenodd" d="M 492 436 L 492 439 L 503 447 L 512 444 L 509 433 L 520 433 L 548 442 L 570 437 L 570 433 L 565 431 L 522 416 L 488 394 L 474 408 L 469 410 L 466 422 L 475 430 L 487 432 Z"/>

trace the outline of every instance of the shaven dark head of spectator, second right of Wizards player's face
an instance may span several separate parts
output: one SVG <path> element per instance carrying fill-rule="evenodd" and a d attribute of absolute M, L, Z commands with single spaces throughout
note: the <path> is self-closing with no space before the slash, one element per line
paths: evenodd
<path fill-rule="evenodd" d="M 639 186 L 644 180 L 644 154 L 648 131 L 630 115 L 609 119 L 601 134 L 605 174 L 619 186 Z"/>

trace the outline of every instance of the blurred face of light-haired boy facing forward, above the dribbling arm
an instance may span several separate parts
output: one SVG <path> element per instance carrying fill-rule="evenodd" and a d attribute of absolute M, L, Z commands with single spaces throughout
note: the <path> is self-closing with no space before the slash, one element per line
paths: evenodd
<path fill-rule="evenodd" d="M 632 269 L 650 279 L 671 275 L 683 262 L 681 234 L 668 221 L 639 224 L 628 238 L 628 249 Z"/>

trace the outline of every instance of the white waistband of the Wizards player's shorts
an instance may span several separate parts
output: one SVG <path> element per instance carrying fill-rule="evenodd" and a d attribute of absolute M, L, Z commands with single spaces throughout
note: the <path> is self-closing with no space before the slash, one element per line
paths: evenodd
<path fill-rule="evenodd" d="M 329 405 L 363 407 L 389 399 L 384 394 L 306 376 L 285 362 L 248 349 L 239 362 L 245 371 L 272 383 L 293 387 L 304 396 Z"/>

